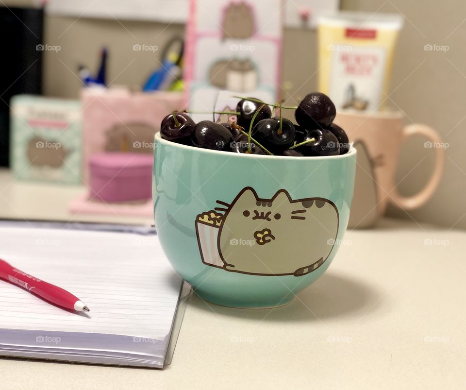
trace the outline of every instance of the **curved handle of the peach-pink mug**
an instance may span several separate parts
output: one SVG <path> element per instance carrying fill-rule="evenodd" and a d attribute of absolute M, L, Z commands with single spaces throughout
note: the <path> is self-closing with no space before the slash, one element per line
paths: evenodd
<path fill-rule="evenodd" d="M 432 144 L 439 144 L 442 142 L 442 138 L 440 138 L 438 133 L 433 130 L 432 127 L 427 125 L 413 123 L 403 128 L 403 141 L 408 137 L 418 135 L 426 137 Z M 405 210 L 412 210 L 420 207 L 432 196 L 442 177 L 443 164 L 445 160 L 444 148 L 436 147 L 433 148 L 433 150 L 435 151 L 435 165 L 433 168 L 432 176 L 424 188 L 422 188 L 416 195 L 401 196 L 395 187 L 393 189 L 392 195 L 390 196 L 390 201 L 392 204 Z"/>

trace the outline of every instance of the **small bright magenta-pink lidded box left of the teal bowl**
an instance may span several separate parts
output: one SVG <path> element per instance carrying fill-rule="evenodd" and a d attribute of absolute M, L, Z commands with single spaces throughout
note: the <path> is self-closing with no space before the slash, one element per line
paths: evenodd
<path fill-rule="evenodd" d="M 99 153 L 89 159 L 90 198 L 128 202 L 152 197 L 152 160 L 146 153 Z"/>

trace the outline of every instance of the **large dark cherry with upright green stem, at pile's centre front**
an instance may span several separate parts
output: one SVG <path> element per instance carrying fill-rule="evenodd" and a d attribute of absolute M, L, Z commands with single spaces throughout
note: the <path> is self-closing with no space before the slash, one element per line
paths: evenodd
<path fill-rule="evenodd" d="M 282 128 L 280 128 L 280 120 L 282 120 Z M 293 145 L 295 127 L 291 120 L 286 118 L 262 119 L 252 129 L 252 137 L 269 152 L 279 154 Z"/>

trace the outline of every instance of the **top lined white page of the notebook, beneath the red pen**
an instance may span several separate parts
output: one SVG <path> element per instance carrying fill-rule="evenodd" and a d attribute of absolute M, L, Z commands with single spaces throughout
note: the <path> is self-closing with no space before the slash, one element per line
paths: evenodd
<path fill-rule="evenodd" d="M 0 280 L 0 332 L 125 335 L 148 343 L 170 332 L 182 280 L 156 235 L 0 227 L 0 258 L 65 288 L 91 310 L 68 312 Z"/>

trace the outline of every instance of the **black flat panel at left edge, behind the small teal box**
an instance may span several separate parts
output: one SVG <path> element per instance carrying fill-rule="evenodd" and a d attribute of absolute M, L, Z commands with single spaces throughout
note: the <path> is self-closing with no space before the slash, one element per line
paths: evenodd
<path fill-rule="evenodd" d="M 42 93 L 42 8 L 0 7 L 0 166 L 8 166 L 10 99 Z"/>

